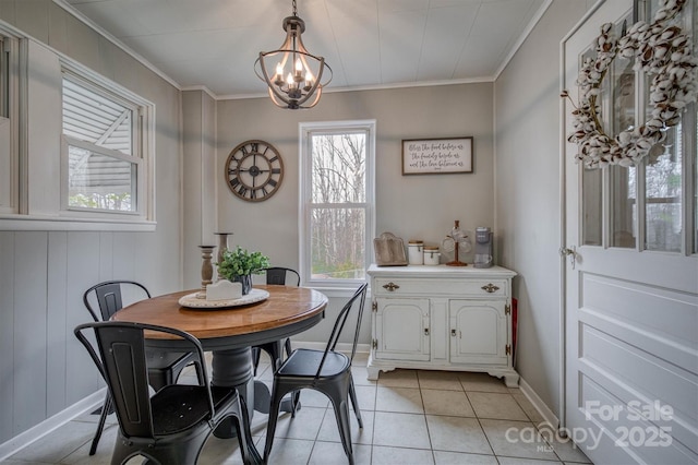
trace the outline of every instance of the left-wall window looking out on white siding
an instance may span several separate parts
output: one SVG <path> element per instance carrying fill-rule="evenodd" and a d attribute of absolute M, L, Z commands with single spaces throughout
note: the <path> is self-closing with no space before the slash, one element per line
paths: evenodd
<path fill-rule="evenodd" d="M 141 108 L 70 72 L 63 74 L 63 207 L 139 213 Z"/>

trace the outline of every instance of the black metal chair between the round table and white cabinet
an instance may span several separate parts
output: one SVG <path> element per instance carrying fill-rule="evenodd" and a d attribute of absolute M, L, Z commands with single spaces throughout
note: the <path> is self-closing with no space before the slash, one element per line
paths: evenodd
<path fill-rule="evenodd" d="M 363 428 L 361 412 L 357 404 L 357 393 L 351 377 L 351 361 L 357 353 L 359 341 L 359 329 L 363 315 L 363 306 L 366 297 L 368 284 L 362 284 L 353 294 L 351 299 L 339 312 L 335 326 L 332 330 L 329 341 L 325 350 L 296 349 L 281 363 L 274 373 L 274 384 L 272 388 L 272 405 L 269 408 L 269 419 L 266 430 L 266 444 L 264 446 L 264 462 L 267 463 L 272 444 L 274 443 L 274 432 L 279 415 L 281 398 L 291 391 L 301 389 L 314 389 L 322 392 L 332 401 L 335 409 L 335 417 L 339 427 L 339 436 L 345 453 L 349 458 L 349 464 L 353 464 L 353 452 L 351 448 L 351 429 L 349 426 L 349 400 L 353 405 L 353 412 L 359 422 L 359 428 Z M 352 308 L 358 308 L 356 315 L 356 326 L 351 355 L 335 350 L 339 336 L 345 329 L 347 319 Z M 293 409 L 292 412 L 294 412 Z"/>

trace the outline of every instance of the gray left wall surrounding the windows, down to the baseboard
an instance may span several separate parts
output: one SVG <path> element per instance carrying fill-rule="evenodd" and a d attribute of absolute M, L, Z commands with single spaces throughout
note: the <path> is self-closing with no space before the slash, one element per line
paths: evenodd
<path fill-rule="evenodd" d="M 182 148 L 176 87 L 50 0 L 2 1 L 0 20 L 155 103 L 158 222 L 155 233 L 0 231 L 2 443 L 100 386 L 72 334 L 88 320 L 86 288 L 109 278 L 137 279 L 155 294 L 181 287 Z"/>

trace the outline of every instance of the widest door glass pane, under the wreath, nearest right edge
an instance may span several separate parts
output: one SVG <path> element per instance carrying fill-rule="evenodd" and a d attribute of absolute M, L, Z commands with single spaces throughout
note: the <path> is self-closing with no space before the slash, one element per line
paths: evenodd
<path fill-rule="evenodd" d="M 682 241 L 682 124 L 666 130 L 666 139 L 655 144 L 646 163 L 647 250 L 681 252 Z"/>

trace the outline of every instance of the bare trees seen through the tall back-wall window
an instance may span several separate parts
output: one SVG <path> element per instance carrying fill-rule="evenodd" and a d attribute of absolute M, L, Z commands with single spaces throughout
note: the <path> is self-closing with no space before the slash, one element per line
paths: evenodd
<path fill-rule="evenodd" d="M 365 132 L 312 135 L 311 275 L 363 279 Z"/>

